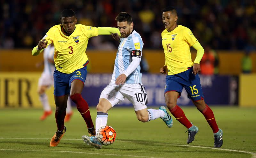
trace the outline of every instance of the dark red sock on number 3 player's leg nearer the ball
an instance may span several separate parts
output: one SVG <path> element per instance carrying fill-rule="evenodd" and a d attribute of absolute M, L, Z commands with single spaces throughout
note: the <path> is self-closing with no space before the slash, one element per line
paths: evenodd
<path fill-rule="evenodd" d="M 88 128 L 94 127 L 88 103 L 83 99 L 82 95 L 76 93 L 70 96 L 70 98 L 72 99 L 72 101 L 76 103 L 76 108 L 84 118 L 84 121 L 86 122 L 87 127 Z"/>

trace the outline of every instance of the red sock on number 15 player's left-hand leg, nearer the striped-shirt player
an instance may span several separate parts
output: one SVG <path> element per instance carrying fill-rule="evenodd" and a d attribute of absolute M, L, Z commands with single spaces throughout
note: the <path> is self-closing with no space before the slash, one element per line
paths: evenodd
<path fill-rule="evenodd" d="M 190 128 L 193 125 L 188 121 L 187 117 L 185 116 L 183 110 L 176 105 L 172 109 L 169 109 L 169 111 L 172 113 L 172 115 L 178 120 L 181 124 L 183 124 L 185 127 Z"/>

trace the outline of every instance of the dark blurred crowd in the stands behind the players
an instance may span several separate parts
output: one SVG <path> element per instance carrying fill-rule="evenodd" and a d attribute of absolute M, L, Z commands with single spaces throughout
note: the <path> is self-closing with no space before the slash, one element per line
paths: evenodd
<path fill-rule="evenodd" d="M 116 27 L 119 12 L 132 15 L 144 48 L 162 49 L 162 10 L 174 6 L 178 24 L 191 29 L 199 42 L 215 50 L 255 50 L 255 0 L 0 0 L 0 48 L 33 48 L 60 24 L 60 12 L 76 12 L 78 24 Z M 116 49 L 111 36 L 89 40 L 88 48 Z"/>

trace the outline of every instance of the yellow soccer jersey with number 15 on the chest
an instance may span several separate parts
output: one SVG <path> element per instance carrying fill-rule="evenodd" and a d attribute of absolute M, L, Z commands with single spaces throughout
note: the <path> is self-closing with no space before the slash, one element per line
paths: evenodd
<path fill-rule="evenodd" d="M 165 65 L 168 75 L 174 75 L 188 70 L 193 66 L 190 47 L 197 42 L 196 37 L 189 28 L 179 25 L 168 32 L 162 32 L 162 44 L 165 55 Z"/>

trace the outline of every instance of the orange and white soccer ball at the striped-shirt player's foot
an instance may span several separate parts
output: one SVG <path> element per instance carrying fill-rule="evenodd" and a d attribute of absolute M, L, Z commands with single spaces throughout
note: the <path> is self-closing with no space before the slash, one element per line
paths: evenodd
<path fill-rule="evenodd" d="M 110 126 L 102 126 L 96 134 L 101 144 L 108 146 L 116 140 L 116 131 Z"/>

